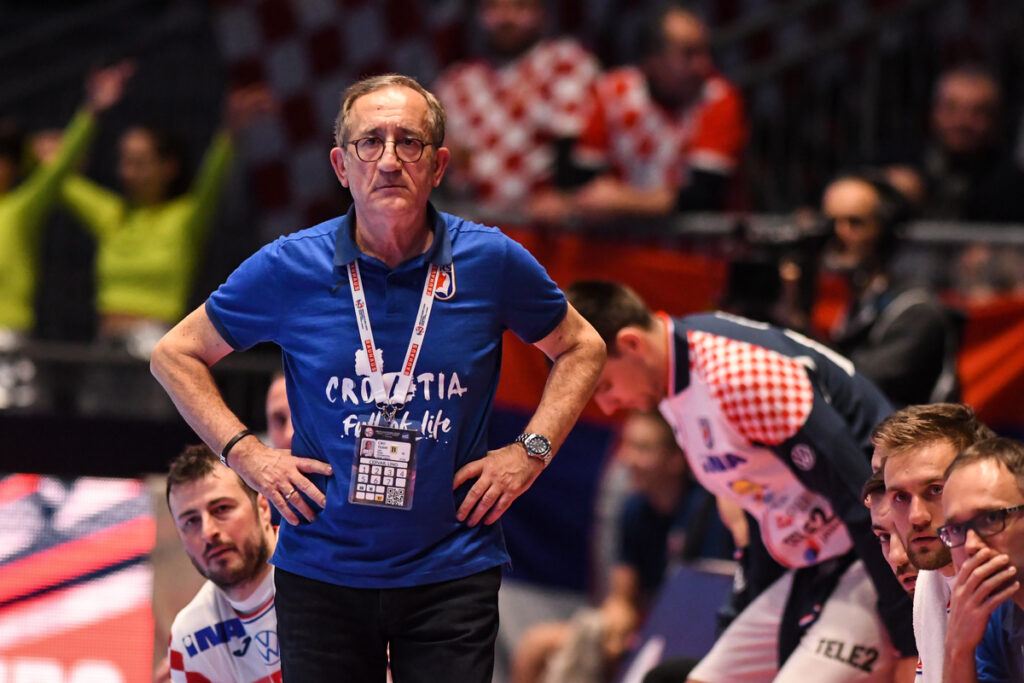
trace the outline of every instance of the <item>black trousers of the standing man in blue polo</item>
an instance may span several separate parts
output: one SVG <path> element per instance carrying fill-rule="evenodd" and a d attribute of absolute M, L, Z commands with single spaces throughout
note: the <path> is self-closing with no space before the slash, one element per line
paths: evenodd
<path fill-rule="evenodd" d="M 501 567 L 412 588 L 345 588 L 274 571 L 286 681 L 489 683 Z"/>

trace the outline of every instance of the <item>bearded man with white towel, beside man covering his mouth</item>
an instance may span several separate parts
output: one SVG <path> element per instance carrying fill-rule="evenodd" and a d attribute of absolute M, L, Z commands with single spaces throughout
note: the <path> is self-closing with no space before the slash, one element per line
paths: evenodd
<path fill-rule="evenodd" d="M 910 405 L 883 420 L 871 435 L 872 462 L 882 463 L 896 531 L 922 571 L 913 594 L 919 681 L 942 681 L 949 591 L 955 577 L 949 549 L 939 540 L 946 468 L 991 429 L 969 405 Z"/>

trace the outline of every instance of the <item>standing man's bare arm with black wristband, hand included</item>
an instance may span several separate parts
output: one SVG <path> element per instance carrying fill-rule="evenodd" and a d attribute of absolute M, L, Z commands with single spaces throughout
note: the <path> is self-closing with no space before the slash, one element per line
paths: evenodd
<path fill-rule="evenodd" d="M 181 417 L 214 453 L 221 453 L 246 428 L 227 408 L 210 373 L 210 368 L 230 351 L 206 307 L 200 306 L 160 340 L 150 361 L 154 377 Z M 321 508 L 327 502 L 324 493 L 303 475 L 304 472 L 330 475 L 331 466 L 325 462 L 296 458 L 290 451 L 270 449 L 257 438 L 244 437 L 231 447 L 227 464 L 246 483 L 263 494 L 289 523 L 299 521 L 293 507 L 308 520 L 314 516 L 296 492 Z"/>

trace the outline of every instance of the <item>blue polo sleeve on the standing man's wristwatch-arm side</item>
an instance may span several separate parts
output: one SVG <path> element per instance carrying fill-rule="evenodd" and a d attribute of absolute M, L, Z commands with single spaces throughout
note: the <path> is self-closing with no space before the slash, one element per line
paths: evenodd
<path fill-rule="evenodd" d="M 534 344 L 547 337 L 565 317 L 568 303 L 544 267 L 515 240 L 506 238 L 501 276 L 505 328 Z"/>

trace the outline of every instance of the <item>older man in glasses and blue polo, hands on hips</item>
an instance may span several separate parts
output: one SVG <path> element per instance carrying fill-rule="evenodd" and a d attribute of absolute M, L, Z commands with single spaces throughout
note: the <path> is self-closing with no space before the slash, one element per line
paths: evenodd
<path fill-rule="evenodd" d="M 289 522 L 272 558 L 285 680 L 381 681 L 389 648 L 398 683 L 489 681 L 508 561 L 495 522 L 603 362 L 522 247 L 429 204 L 443 139 L 416 81 L 351 86 L 331 163 L 352 209 L 265 246 L 154 351 L 185 420 Z M 505 330 L 554 365 L 523 434 L 488 452 Z M 209 372 L 263 341 L 283 350 L 290 452 L 249 438 Z"/>

